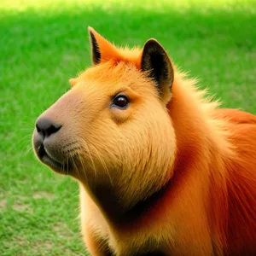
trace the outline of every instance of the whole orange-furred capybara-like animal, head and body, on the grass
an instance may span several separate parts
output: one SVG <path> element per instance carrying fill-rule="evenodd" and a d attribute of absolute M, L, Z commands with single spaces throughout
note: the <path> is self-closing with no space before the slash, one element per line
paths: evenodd
<path fill-rule="evenodd" d="M 92 255 L 255 255 L 256 116 L 218 108 L 154 39 L 118 49 L 37 120 L 33 145 L 79 181 Z M 68 206 L 67 206 L 68 207 Z"/>

